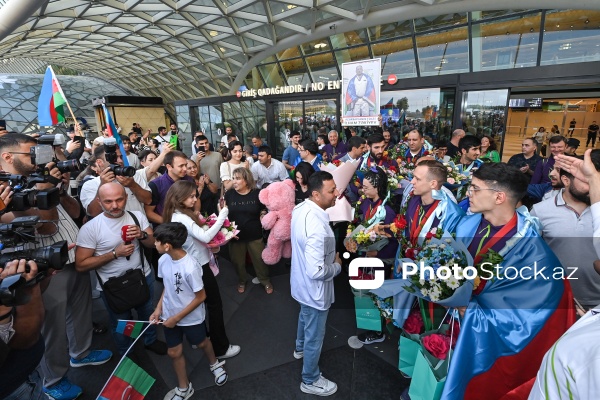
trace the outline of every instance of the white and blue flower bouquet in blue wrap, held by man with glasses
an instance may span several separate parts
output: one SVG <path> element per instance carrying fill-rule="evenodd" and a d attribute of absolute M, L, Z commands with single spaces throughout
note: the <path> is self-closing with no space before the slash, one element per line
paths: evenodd
<path fill-rule="evenodd" d="M 411 259 L 407 261 L 413 262 Z M 467 277 L 466 268 L 473 265 L 473 260 L 464 245 L 452 237 L 432 237 L 416 254 L 414 263 L 417 262 L 418 272 L 403 277 L 410 283 L 404 287 L 406 291 L 448 307 L 466 306 L 469 303 L 475 277 Z M 397 274 L 401 266 L 402 262 L 398 263 Z"/>

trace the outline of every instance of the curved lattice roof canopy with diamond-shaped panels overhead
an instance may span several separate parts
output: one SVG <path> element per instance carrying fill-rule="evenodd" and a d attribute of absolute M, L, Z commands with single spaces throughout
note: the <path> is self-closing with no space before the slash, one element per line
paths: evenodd
<path fill-rule="evenodd" d="M 33 11 L 31 3 L 43 5 Z M 501 7 L 540 3 L 504 0 Z M 4 12 L 11 6 L 28 14 L 14 30 L 17 19 L 6 21 Z M 543 2 L 566 6 L 600 9 L 600 2 Z M 166 101 L 231 94 L 254 66 L 291 46 L 382 23 L 498 8 L 495 0 L 0 0 L 0 72 L 60 65 Z"/>

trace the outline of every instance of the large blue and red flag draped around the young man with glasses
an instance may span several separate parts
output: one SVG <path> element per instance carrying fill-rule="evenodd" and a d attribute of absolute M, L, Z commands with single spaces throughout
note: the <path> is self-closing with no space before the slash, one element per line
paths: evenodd
<path fill-rule="evenodd" d="M 456 229 L 457 240 L 468 246 L 481 218 L 464 217 Z M 526 397 L 544 354 L 574 322 L 568 282 L 533 279 L 533 266 L 547 267 L 552 277 L 560 262 L 521 213 L 517 230 L 522 236 L 503 256 L 501 267 L 519 268 L 522 276 L 488 281 L 473 296 L 461 323 L 443 399 L 500 399 L 509 393 L 516 396 L 510 398 Z M 524 266 L 532 269 L 521 269 Z"/>

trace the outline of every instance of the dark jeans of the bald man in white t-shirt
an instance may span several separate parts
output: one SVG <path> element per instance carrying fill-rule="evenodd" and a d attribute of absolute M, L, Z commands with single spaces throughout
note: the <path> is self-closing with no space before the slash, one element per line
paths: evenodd
<path fill-rule="evenodd" d="M 150 316 L 154 312 L 154 274 L 150 272 L 150 275 L 146 277 L 146 282 L 148 282 L 148 287 L 150 288 L 150 298 L 147 302 L 142 304 L 139 307 L 135 308 L 137 311 L 137 319 L 140 321 L 148 321 Z M 117 314 L 108 306 L 106 302 L 106 297 L 104 296 L 104 292 L 100 292 L 102 301 L 104 301 L 104 306 L 106 307 L 106 311 L 108 311 L 108 316 L 110 318 L 110 327 L 113 339 L 115 344 L 117 345 L 117 349 L 121 355 L 125 354 L 129 346 L 131 346 L 132 339 L 123 335 L 122 333 L 118 333 L 117 323 L 119 319 L 133 319 L 131 315 L 131 310 Z M 144 326 L 145 328 L 145 326 Z M 152 325 L 144 334 L 144 343 L 146 345 L 152 344 L 156 341 L 156 325 Z"/>

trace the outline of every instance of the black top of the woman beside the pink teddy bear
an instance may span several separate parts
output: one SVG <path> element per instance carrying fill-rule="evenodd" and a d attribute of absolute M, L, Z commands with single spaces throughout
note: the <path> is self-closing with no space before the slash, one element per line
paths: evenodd
<path fill-rule="evenodd" d="M 258 189 L 241 195 L 234 189 L 225 193 L 225 203 L 229 207 L 229 220 L 234 221 L 240 231 L 240 240 L 251 241 L 262 238 L 260 212 L 265 210 L 264 204 L 258 200 Z"/>

